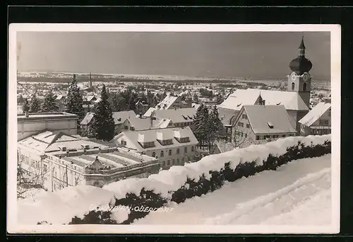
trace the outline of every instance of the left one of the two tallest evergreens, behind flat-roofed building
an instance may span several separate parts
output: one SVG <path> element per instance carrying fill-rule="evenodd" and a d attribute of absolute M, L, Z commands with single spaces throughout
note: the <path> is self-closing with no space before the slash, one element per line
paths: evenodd
<path fill-rule="evenodd" d="M 80 93 L 80 88 L 77 86 L 76 75 L 73 75 L 72 82 L 68 86 L 68 93 L 65 102 L 65 112 L 72 113 L 78 116 L 78 128 L 80 121 L 85 117 L 85 110 L 83 110 L 83 97 Z"/>

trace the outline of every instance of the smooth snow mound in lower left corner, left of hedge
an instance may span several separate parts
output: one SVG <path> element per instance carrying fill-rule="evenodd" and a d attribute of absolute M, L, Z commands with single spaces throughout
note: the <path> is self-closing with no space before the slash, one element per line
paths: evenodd
<path fill-rule="evenodd" d="M 18 223 L 68 224 L 75 216 L 99 206 L 107 206 L 112 192 L 88 185 L 64 188 L 56 192 L 43 192 L 35 197 L 18 200 Z"/>

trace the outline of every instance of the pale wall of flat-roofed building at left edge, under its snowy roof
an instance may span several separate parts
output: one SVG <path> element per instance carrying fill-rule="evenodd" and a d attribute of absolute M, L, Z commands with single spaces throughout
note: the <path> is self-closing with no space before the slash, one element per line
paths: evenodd
<path fill-rule="evenodd" d="M 77 134 L 77 120 L 28 120 L 17 123 L 17 139 L 25 139 L 43 129 L 58 130 L 64 134 Z"/>

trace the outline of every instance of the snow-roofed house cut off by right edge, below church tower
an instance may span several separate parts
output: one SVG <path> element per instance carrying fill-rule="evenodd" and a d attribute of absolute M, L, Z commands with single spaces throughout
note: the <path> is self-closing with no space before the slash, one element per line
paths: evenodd
<path fill-rule="evenodd" d="M 331 103 L 318 103 L 301 120 L 301 135 L 331 133 Z"/>

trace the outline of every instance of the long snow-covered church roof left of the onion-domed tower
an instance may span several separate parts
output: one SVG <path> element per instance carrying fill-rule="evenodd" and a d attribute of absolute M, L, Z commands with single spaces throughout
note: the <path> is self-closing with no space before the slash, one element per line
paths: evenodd
<path fill-rule="evenodd" d="M 220 108 L 240 110 L 243 105 L 257 104 L 259 96 L 265 105 L 285 105 L 286 110 L 309 110 L 304 100 L 296 92 L 262 89 L 237 89 L 220 104 Z"/>

